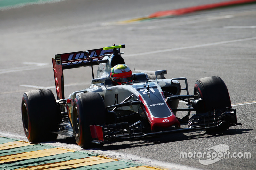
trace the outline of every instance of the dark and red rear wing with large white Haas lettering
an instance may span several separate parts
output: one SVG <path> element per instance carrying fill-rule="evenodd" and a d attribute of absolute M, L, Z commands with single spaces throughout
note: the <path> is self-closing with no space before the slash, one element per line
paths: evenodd
<path fill-rule="evenodd" d="M 120 53 L 120 48 L 125 48 L 125 45 L 110 46 L 88 51 L 77 51 L 71 53 L 56 54 L 55 59 L 52 58 L 55 86 L 57 98 L 64 99 L 64 69 L 73 69 L 78 67 L 99 65 L 107 63 L 107 60 L 102 60 L 104 55 Z M 92 68 L 92 78 L 93 68 Z"/>

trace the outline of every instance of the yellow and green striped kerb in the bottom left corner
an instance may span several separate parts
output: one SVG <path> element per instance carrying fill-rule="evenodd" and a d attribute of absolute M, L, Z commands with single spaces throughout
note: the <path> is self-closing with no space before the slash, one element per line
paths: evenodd
<path fill-rule="evenodd" d="M 0 132 L 0 135 L 8 136 L 8 134 L 2 132 Z M 159 169 L 141 166 L 140 163 L 107 158 L 88 151 L 75 151 L 55 147 L 49 146 L 48 144 L 30 144 L 24 141 L 0 137 L 0 169 Z"/>

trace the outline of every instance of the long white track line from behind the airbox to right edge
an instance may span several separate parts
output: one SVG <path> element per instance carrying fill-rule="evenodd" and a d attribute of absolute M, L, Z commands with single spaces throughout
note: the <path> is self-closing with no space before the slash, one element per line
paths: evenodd
<path fill-rule="evenodd" d="M 243 38 L 243 39 L 230 40 L 230 41 L 213 42 L 213 43 L 200 44 L 200 45 L 194 45 L 194 46 L 188 46 L 188 47 L 179 47 L 179 48 L 170 48 L 170 49 L 157 50 L 157 51 L 149 51 L 149 52 L 144 52 L 144 53 L 123 55 L 123 57 L 133 57 L 133 56 L 138 56 L 138 55 L 149 55 L 149 54 L 177 51 L 177 50 L 190 49 L 190 48 L 199 48 L 199 47 L 207 47 L 207 46 L 212 46 L 212 45 L 220 45 L 220 44 L 239 42 L 239 41 L 248 41 L 248 40 L 256 40 L 256 37 Z"/>

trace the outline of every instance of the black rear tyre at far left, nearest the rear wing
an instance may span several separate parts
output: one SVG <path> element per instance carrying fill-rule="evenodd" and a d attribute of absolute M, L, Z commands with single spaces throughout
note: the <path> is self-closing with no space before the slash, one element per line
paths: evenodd
<path fill-rule="evenodd" d="M 55 140 L 58 134 L 56 100 L 51 90 L 40 89 L 24 93 L 21 104 L 22 122 L 30 142 Z"/>

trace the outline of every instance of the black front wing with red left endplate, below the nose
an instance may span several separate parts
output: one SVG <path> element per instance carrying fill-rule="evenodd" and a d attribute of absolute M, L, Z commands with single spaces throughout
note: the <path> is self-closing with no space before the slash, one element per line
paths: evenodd
<path fill-rule="evenodd" d="M 172 129 L 157 131 L 151 133 L 143 133 L 140 124 L 136 122 L 133 125 L 128 123 L 116 123 L 105 126 L 90 125 L 92 143 L 104 144 L 112 140 L 132 140 L 144 137 L 151 137 L 172 133 L 184 133 L 190 131 L 220 131 L 223 128 L 228 129 L 230 126 L 242 125 L 237 123 L 236 109 L 226 108 L 225 110 L 214 110 L 204 114 L 193 115 L 188 121 L 188 128 Z"/>

